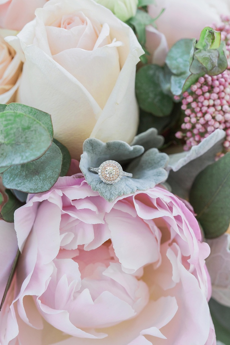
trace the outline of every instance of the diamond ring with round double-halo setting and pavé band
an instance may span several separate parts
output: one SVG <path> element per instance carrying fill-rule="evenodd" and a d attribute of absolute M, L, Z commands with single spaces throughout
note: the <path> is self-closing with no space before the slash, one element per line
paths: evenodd
<path fill-rule="evenodd" d="M 97 172 L 100 179 L 104 183 L 108 183 L 110 185 L 120 181 L 122 176 L 132 177 L 132 174 L 130 174 L 130 172 L 123 171 L 121 165 L 115 160 L 106 160 L 99 168 L 89 168 L 89 170 Z"/>

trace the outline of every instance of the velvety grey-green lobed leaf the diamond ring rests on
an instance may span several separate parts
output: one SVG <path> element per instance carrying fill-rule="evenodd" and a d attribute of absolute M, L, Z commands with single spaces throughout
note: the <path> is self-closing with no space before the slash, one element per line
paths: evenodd
<path fill-rule="evenodd" d="M 139 156 L 143 150 L 141 146 L 129 146 L 123 141 L 103 143 L 98 139 L 87 139 L 83 144 L 80 169 L 92 190 L 98 191 L 104 199 L 111 202 L 118 196 L 134 193 L 137 189 L 146 190 L 166 180 L 167 172 L 164 167 L 167 165 L 168 155 L 154 148 L 148 150 L 127 167 L 127 172 L 131 172 L 133 178 L 124 176 L 111 185 L 103 183 L 99 175 L 89 171 L 89 168 L 99 167 L 106 160 L 122 164 Z"/>

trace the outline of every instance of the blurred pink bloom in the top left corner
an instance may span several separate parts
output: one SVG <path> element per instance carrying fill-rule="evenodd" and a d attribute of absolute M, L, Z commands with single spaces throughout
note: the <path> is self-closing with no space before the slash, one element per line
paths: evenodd
<path fill-rule="evenodd" d="M 34 17 L 34 11 L 47 0 L 0 0 L 0 27 L 21 30 Z"/>

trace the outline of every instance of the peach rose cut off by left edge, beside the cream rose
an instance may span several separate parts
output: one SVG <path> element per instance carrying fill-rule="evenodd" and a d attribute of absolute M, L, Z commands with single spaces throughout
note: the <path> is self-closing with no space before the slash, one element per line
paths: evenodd
<path fill-rule="evenodd" d="M 4 40 L 12 31 L 0 29 L 0 103 L 14 101 L 19 86 L 22 62 L 14 49 Z"/>

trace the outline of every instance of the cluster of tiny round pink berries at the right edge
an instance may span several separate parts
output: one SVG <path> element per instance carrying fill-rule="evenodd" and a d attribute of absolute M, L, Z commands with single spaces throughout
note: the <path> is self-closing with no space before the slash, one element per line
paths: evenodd
<path fill-rule="evenodd" d="M 181 109 L 185 117 L 182 130 L 175 135 L 185 141 L 186 151 L 217 128 L 226 131 L 223 147 L 225 152 L 230 151 L 230 17 L 222 17 L 222 23 L 213 29 L 221 31 L 221 38 L 226 42 L 228 68 L 218 76 L 200 77 L 189 92 L 183 93 Z"/>

